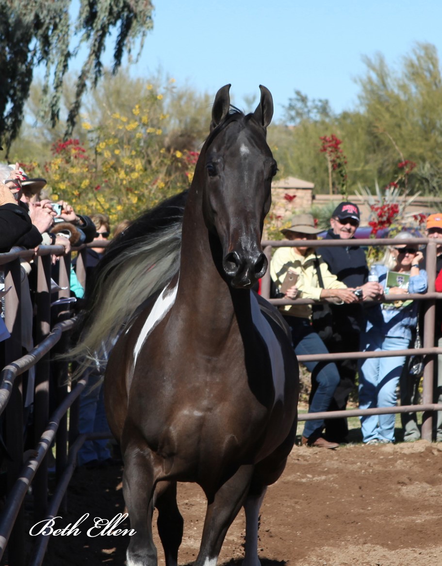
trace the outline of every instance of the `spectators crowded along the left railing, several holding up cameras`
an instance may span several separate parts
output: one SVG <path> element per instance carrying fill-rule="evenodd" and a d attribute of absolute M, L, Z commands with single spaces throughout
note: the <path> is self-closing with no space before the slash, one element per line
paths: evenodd
<path fill-rule="evenodd" d="M 109 217 L 92 212 L 89 216 L 79 215 L 64 200 L 52 202 L 45 194 L 46 181 L 43 178 L 29 178 L 19 164 L 0 164 L 0 252 L 6 253 L 18 246 L 34 250 L 37 253 L 41 245 L 62 246 L 63 255 L 69 254 L 72 247 L 90 244 L 85 248 L 84 267 L 86 277 L 91 277 L 99 259 L 105 252 L 103 241 L 110 237 Z M 127 226 L 126 223 L 121 229 Z M 115 235 L 115 234 L 114 234 Z M 93 246 L 95 242 L 101 245 Z M 51 273 L 58 279 L 59 255 L 52 255 Z M 76 275 L 75 258 L 70 266 L 70 301 L 78 301 L 84 295 L 84 277 L 80 282 Z M 34 346 L 34 304 L 35 281 L 33 278 L 33 259 L 20 259 L 21 271 L 21 344 L 23 353 Z M 55 284 L 54 279 L 52 284 Z M 4 277 L 2 277 L 4 282 Z M 3 289 L 3 297 L 8 290 Z M 75 304 L 75 303 L 74 303 Z M 77 309 L 78 310 L 78 309 Z M 0 316 L 0 352 L 2 366 L 8 359 L 7 347 L 10 333 L 5 324 L 5 300 Z M 92 375 L 89 375 L 92 374 Z M 99 380 L 103 367 L 89 371 L 83 377 L 88 378 L 88 385 L 80 398 L 78 432 L 109 432 L 103 406 L 103 396 Z M 33 445 L 33 409 L 34 409 L 34 367 L 23 377 L 23 417 L 24 447 Z M 2 442 L 5 431 L 5 419 L 0 418 L 0 449 L 3 460 L 7 458 L 7 449 Z M 51 454 L 50 454 L 51 456 Z M 89 440 L 80 448 L 79 465 L 94 468 L 120 463 L 111 456 L 109 440 Z M 49 467 L 51 468 L 51 460 Z"/>

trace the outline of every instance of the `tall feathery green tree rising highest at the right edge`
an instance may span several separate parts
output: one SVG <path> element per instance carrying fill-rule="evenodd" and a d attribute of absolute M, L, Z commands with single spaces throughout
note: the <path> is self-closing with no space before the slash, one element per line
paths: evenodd
<path fill-rule="evenodd" d="M 382 54 L 364 60 L 367 74 L 357 81 L 360 111 L 377 177 L 388 183 L 397 163 L 411 160 L 418 166 L 408 188 L 434 189 L 442 180 L 442 76 L 435 46 L 416 44 L 400 70 L 389 68 Z"/>

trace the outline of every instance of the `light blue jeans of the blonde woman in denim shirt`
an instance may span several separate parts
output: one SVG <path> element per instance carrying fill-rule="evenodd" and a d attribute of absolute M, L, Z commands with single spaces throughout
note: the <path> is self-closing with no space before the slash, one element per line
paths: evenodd
<path fill-rule="evenodd" d="M 385 337 L 372 329 L 361 336 L 361 350 L 404 350 L 408 338 Z M 359 408 L 396 406 L 396 387 L 401 376 L 405 356 L 368 358 L 359 361 Z M 363 441 L 395 441 L 395 415 L 369 415 L 361 417 Z"/>

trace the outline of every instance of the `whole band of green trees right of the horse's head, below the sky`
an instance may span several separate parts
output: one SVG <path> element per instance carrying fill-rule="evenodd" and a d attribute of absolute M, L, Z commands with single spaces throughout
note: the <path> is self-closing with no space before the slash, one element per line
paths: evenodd
<path fill-rule="evenodd" d="M 327 101 L 295 91 L 285 107 L 290 125 L 269 131 L 280 174 L 313 181 L 317 192 L 326 192 L 327 164 L 318 151 L 319 138 L 333 133 L 345 144 L 349 194 L 358 185 L 374 190 L 375 181 L 387 187 L 405 161 L 417 164 L 408 176 L 412 194 L 440 192 L 442 74 L 435 46 L 416 44 L 396 67 L 388 66 L 382 54 L 364 61 L 366 73 L 357 79 L 359 104 L 353 110 L 335 115 Z"/>

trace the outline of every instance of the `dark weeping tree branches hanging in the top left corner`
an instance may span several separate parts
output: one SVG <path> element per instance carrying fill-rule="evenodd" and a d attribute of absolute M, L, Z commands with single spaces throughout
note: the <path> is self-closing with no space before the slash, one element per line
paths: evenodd
<path fill-rule="evenodd" d="M 130 54 L 137 41 L 141 49 L 153 27 L 150 0 L 80 0 L 76 22 L 70 19 L 71 4 L 72 0 L 0 0 L 0 141 L 7 149 L 18 135 L 36 67 L 45 68 L 41 112 L 54 125 L 59 119 L 64 75 L 80 46 L 86 47 L 67 116 L 69 136 L 86 88 L 95 87 L 102 74 L 102 56 L 111 32 L 116 32 L 116 71 L 123 54 Z"/>

